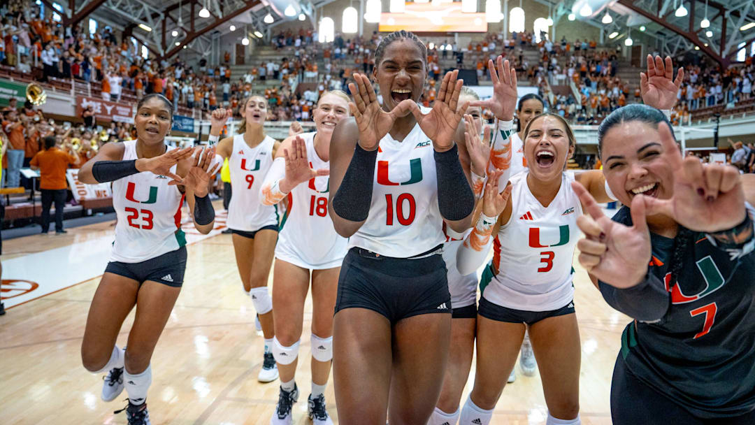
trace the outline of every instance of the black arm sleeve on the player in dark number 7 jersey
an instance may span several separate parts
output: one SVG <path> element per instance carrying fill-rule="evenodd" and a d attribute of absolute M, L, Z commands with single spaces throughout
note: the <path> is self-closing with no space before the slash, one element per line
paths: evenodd
<path fill-rule="evenodd" d="M 664 283 L 651 273 L 632 288 L 619 289 L 600 281 L 598 287 L 609 306 L 643 322 L 661 319 L 666 315 L 670 303 Z"/>

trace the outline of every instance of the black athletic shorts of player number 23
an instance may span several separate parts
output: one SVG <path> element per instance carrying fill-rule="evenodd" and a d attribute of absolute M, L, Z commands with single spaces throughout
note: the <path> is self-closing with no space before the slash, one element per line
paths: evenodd
<path fill-rule="evenodd" d="M 180 288 L 183 285 L 183 273 L 186 272 L 186 247 L 167 252 L 159 257 L 150 258 L 141 263 L 121 263 L 110 261 L 105 273 L 113 273 L 128 279 L 134 279 L 139 285 L 151 280 L 164 285 Z"/>

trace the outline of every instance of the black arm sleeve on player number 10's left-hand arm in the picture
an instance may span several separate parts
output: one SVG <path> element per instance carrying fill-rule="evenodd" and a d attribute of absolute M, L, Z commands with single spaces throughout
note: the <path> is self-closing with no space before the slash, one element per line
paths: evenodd
<path fill-rule="evenodd" d="M 377 149 L 368 151 L 356 143 L 344 180 L 333 196 L 333 211 L 338 217 L 350 221 L 367 220 L 372 204 L 376 159 Z"/>

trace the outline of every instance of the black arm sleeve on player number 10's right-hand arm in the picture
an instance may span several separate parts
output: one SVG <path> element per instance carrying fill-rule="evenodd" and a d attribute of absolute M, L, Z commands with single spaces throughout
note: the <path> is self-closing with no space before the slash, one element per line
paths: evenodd
<path fill-rule="evenodd" d="M 461 168 L 458 147 L 445 152 L 435 151 L 438 178 L 438 208 L 445 220 L 463 220 L 474 209 L 474 193 Z"/>

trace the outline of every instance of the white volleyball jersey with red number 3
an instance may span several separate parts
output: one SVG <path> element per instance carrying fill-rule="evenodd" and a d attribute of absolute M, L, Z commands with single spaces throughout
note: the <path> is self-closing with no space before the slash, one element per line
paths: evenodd
<path fill-rule="evenodd" d="M 511 177 L 511 217 L 493 241 L 498 273 L 482 296 L 515 310 L 556 310 L 574 298 L 572 257 L 582 207 L 571 186 L 574 174 L 562 174 L 561 188 L 547 207 L 532 196 L 527 175 Z"/>

